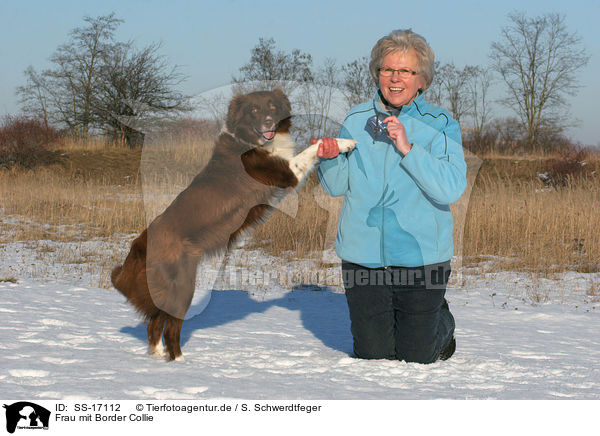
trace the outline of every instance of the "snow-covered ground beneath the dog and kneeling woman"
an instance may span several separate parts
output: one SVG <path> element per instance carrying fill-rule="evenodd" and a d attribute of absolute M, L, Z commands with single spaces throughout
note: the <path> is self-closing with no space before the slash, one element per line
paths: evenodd
<path fill-rule="evenodd" d="M 61 264 L 61 250 L 77 247 L 46 244 L 42 256 L 39 244 L 0 247 L 3 398 L 600 399 L 599 274 L 534 283 L 462 270 L 447 293 L 457 351 L 432 365 L 352 357 L 339 287 L 217 290 L 184 323 L 185 362 L 166 363 L 146 354 L 124 298 L 93 285 L 106 271 Z M 250 268 L 287 265 L 250 258 Z"/>

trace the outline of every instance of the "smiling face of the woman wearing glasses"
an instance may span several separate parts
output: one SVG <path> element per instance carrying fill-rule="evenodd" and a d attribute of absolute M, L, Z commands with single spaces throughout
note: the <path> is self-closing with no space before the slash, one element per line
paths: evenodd
<path fill-rule="evenodd" d="M 383 58 L 381 68 L 392 68 L 395 70 L 407 69 L 420 72 L 419 58 L 414 49 L 407 52 L 395 51 Z M 389 77 L 379 74 L 379 89 L 383 97 L 392 106 L 405 106 L 417 96 L 417 91 L 423 88 L 425 80 L 423 74 L 415 74 L 410 77 L 401 77 L 394 72 Z"/>

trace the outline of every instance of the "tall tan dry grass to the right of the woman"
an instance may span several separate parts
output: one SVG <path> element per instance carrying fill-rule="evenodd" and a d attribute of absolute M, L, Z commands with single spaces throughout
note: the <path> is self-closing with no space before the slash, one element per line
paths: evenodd
<path fill-rule="evenodd" d="M 467 214 L 464 255 L 499 257 L 498 267 L 552 273 L 600 271 L 600 178 L 560 189 L 537 180 L 481 174 Z"/>

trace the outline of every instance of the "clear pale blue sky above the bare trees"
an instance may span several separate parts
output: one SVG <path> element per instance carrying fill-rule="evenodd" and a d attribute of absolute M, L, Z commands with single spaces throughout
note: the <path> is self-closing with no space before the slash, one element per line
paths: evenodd
<path fill-rule="evenodd" d="M 14 91 L 23 84 L 23 71 L 29 65 L 47 67 L 49 56 L 71 29 L 84 24 L 85 15 L 115 12 L 125 20 L 117 32 L 119 40 L 162 42 L 162 54 L 189 76 L 182 90 L 199 94 L 228 84 L 260 37 L 274 38 L 285 51 L 310 53 L 314 64 L 330 57 L 341 65 L 368 55 L 377 39 L 391 30 L 412 28 L 443 63 L 487 65 L 490 44 L 499 39 L 507 14 L 515 10 L 529 16 L 564 14 L 569 31 L 582 37 L 591 59 L 574 84 L 581 88 L 570 99 L 571 112 L 580 123 L 570 134 L 585 144 L 600 145 L 599 0 L 0 0 L 0 116 L 18 112 Z M 498 106 L 496 115 L 512 114 Z"/>

